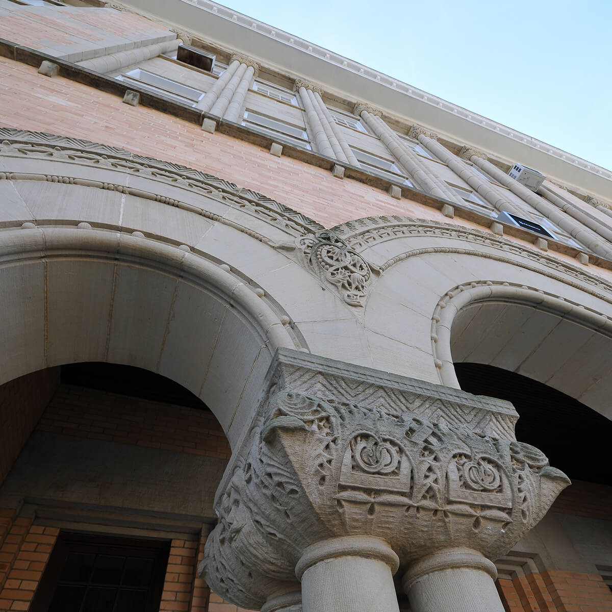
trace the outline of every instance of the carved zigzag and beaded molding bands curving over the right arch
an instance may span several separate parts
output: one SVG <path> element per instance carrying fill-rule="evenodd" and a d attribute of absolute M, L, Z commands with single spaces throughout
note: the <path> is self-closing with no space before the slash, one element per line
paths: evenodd
<path fill-rule="evenodd" d="M 394 266 L 395 264 L 405 259 L 425 255 L 427 253 L 460 253 L 465 255 L 474 255 L 487 259 L 495 259 L 503 263 L 509 263 L 513 266 L 520 266 L 532 272 L 543 274 L 548 278 L 558 280 L 565 285 L 572 286 L 582 291 L 586 291 L 594 297 L 605 300 L 612 304 L 612 284 L 603 278 L 589 272 L 584 271 L 577 266 L 572 266 L 569 263 L 554 258 L 547 253 L 532 250 L 524 247 L 516 242 L 511 242 L 494 234 L 487 233 L 481 230 L 471 230 L 458 225 L 450 225 L 448 223 L 437 223 L 424 219 L 410 219 L 396 215 L 384 217 L 365 217 L 348 223 L 337 225 L 333 228 L 334 232 L 340 236 L 346 244 L 356 250 L 358 253 L 363 252 L 370 245 L 376 242 L 393 240 L 398 237 L 406 236 L 432 236 L 446 237 L 456 239 L 467 244 L 480 245 L 481 247 L 489 247 L 497 252 L 483 252 L 482 249 L 470 249 L 459 247 L 430 247 L 414 249 L 405 253 L 400 253 L 379 266 L 381 273 Z M 507 253 L 516 255 L 523 259 L 528 259 L 533 262 L 517 261 L 506 256 Z M 562 277 L 556 272 L 569 275 L 575 280 Z M 580 281 L 580 282 L 578 282 Z M 595 289 L 600 289 L 605 293 L 600 293 Z"/>

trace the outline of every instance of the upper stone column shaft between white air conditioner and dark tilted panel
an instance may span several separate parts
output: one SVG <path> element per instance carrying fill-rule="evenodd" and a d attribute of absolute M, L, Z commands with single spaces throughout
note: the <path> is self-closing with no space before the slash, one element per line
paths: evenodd
<path fill-rule="evenodd" d="M 605 257 L 606 259 L 612 259 L 612 247 L 606 244 L 597 233 L 587 229 L 568 215 L 563 214 L 554 204 L 548 203 L 539 195 L 532 192 L 527 187 L 524 187 L 524 185 L 521 185 L 520 182 L 515 181 L 506 173 L 499 170 L 499 168 L 494 166 L 491 162 L 476 157 L 476 155 L 472 155 L 471 162 L 477 165 L 481 170 L 484 170 L 487 174 L 490 174 L 490 176 L 498 181 L 500 185 L 509 188 L 512 193 L 518 195 L 519 198 L 522 198 L 529 206 L 534 207 L 536 211 L 550 219 L 551 222 L 556 223 L 562 230 L 567 231 L 576 241 L 581 242 L 597 255 Z"/>

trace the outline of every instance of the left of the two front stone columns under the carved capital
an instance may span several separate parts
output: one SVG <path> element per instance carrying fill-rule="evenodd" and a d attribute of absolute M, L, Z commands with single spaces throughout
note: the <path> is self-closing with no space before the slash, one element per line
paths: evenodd
<path fill-rule="evenodd" d="M 399 612 L 399 559 L 383 540 L 349 536 L 308 547 L 297 564 L 304 612 Z"/>

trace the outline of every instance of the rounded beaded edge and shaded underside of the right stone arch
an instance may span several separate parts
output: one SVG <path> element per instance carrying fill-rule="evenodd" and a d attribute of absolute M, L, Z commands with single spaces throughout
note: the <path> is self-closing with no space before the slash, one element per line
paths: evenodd
<path fill-rule="evenodd" d="M 495 365 L 612 417 L 612 321 L 582 304 L 524 285 L 470 283 L 438 302 L 431 337 L 447 386 L 460 386 L 453 362 Z"/>

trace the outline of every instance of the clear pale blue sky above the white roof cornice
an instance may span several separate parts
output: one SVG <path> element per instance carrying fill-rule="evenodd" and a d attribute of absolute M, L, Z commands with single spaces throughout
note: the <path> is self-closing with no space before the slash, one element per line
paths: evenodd
<path fill-rule="evenodd" d="M 612 169 L 612 0 L 222 0 Z"/>

